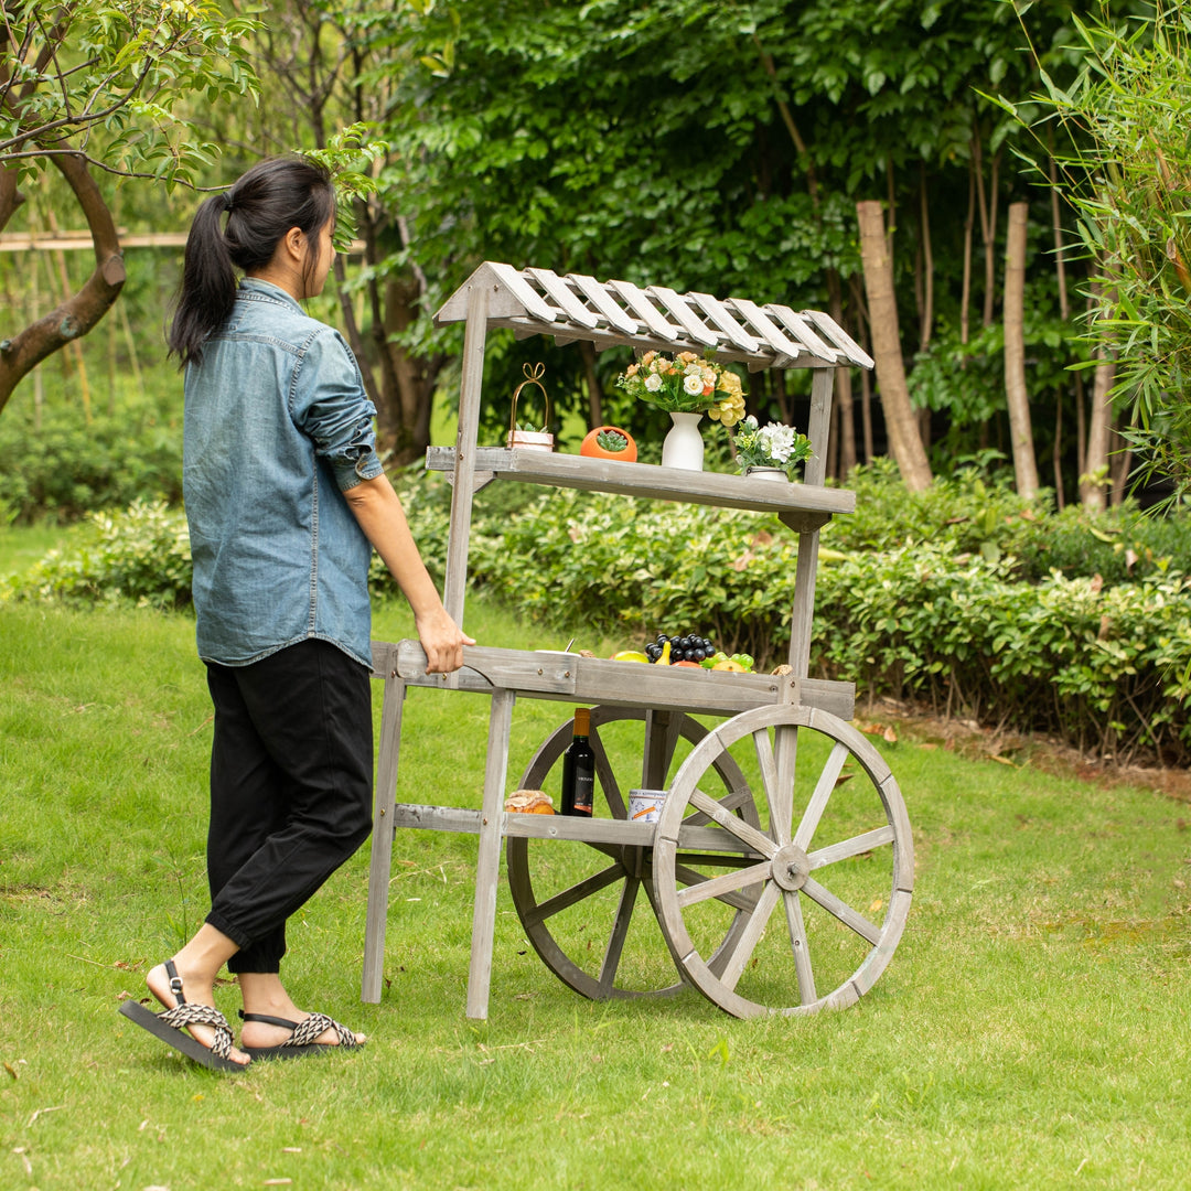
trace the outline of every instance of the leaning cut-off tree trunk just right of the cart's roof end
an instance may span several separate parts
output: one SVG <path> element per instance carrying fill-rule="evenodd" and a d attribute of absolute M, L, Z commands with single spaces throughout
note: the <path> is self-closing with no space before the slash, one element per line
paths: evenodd
<path fill-rule="evenodd" d="M 873 335 L 873 360 L 881 391 L 890 448 L 905 486 L 911 492 L 930 487 L 927 453 L 918 436 L 918 423 L 910 405 L 898 332 L 897 300 L 893 293 L 893 262 L 887 251 L 885 217 L 878 201 L 856 204 L 860 222 L 860 258 L 868 294 L 868 318 Z"/>

